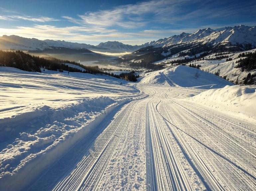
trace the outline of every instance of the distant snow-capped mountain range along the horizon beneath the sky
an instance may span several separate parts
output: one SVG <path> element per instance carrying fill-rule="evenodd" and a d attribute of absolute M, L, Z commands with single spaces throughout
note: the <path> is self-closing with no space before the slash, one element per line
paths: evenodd
<path fill-rule="evenodd" d="M 44 50 L 52 47 L 64 47 L 69 49 L 89 49 L 102 52 L 133 52 L 147 46 L 168 47 L 174 44 L 197 42 L 201 44 L 251 44 L 256 46 L 255 26 L 234 26 L 219 29 L 204 28 L 194 33 L 181 33 L 169 38 L 151 41 L 142 45 L 128 45 L 118 41 L 101 42 L 98 45 L 66 42 L 64 40 L 38 40 L 36 38 L 24 38 L 16 35 L 3 35 L 0 37 L 0 49 L 14 50 Z"/>

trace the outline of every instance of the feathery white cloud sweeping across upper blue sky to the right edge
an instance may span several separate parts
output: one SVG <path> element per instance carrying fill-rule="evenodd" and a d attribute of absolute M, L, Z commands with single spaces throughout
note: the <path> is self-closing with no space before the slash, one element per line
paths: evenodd
<path fill-rule="evenodd" d="M 239 14 L 247 11 L 255 12 L 254 7 L 252 2 L 243 3 L 230 0 L 222 2 L 212 0 L 152 0 L 117 6 L 109 10 L 86 12 L 84 15 L 78 15 L 77 18 L 69 16 L 63 18 L 75 24 L 86 26 L 138 28 L 147 26 L 147 24 L 179 25 L 181 22 L 199 24 L 213 18 L 239 18 Z M 223 17 L 223 13 L 225 17 Z"/>

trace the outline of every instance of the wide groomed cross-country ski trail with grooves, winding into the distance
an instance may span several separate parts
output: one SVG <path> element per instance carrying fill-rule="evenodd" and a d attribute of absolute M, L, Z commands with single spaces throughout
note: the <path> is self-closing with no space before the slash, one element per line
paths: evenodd
<path fill-rule="evenodd" d="M 22 190 L 256 190 L 255 123 L 194 104 L 186 95 L 204 90 L 161 76 L 168 84 L 137 83 L 137 100 L 116 107 Z"/>

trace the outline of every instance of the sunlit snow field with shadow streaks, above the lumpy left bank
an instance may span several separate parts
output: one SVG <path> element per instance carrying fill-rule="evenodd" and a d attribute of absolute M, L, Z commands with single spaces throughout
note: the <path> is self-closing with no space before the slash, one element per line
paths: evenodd
<path fill-rule="evenodd" d="M 109 97 L 116 97 L 117 92 L 121 95 L 136 92 L 128 85 L 119 85 L 120 81 L 127 84 L 125 80 L 105 75 L 79 72 L 69 72 L 68 75 L 67 71 L 48 70 L 37 73 L 9 67 L 1 67 L 0 71 L 2 95 L 8 93 L 1 100 L 0 110 L 12 108 L 13 104 L 19 107 L 1 112 L 2 118 L 34 111 L 44 105 L 54 108 L 64 106 L 80 99 L 101 96 L 102 92 Z M 22 99 L 19 99 L 20 95 Z"/>

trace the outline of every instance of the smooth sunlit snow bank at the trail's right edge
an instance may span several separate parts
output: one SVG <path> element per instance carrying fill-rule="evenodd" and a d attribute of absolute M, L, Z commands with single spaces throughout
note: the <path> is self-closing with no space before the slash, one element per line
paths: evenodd
<path fill-rule="evenodd" d="M 187 100 L 256 122 L 256 86 L 227 85 L 204 91 Z"/>

